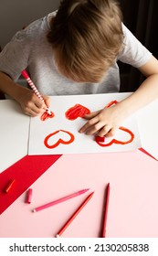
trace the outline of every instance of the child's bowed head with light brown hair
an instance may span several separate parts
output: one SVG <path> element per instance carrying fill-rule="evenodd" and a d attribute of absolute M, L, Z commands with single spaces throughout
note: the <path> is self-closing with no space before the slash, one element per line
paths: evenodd
<path fill-rule="evenodd" d="M 115 0 L 62 0 L 47 38 L 64 76 L 99 82 L 122 46 L 120 7 Z"/>

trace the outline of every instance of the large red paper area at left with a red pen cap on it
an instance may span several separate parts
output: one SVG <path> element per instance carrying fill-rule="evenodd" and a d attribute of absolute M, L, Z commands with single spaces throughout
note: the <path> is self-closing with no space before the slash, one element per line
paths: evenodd
<path fill-rule="evenodd" d="M 0 214 L 8 208 L 17 197 L 26 191 L 39 176 L 47 171 L 61 155 L 26 155 L 14 165 L 0 174 Z M 11 179 L 15 179 L 14 186 L 8 193 L 4 188 Z"/>

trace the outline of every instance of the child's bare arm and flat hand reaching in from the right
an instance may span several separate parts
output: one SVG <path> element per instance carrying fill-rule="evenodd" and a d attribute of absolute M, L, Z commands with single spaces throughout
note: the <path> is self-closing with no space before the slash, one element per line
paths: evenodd
<path fill-rule="evenodd" d="M 80 128 L 79 133 L 112 136 L 129 115 L 158 99 L 158 60 L 152 57 L 139 69 L 146 80 L 137 91 L 111 108 L 87 114 L 85 118 L 89 122 Z"/>

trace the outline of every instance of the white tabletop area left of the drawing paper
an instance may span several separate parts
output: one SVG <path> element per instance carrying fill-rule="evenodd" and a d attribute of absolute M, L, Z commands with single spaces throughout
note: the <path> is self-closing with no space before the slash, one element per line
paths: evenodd
<path fill-rule="evenodd" d="M 27 155 L 29 120 L 16 101 L 0 101 L 0 173 Z"/>

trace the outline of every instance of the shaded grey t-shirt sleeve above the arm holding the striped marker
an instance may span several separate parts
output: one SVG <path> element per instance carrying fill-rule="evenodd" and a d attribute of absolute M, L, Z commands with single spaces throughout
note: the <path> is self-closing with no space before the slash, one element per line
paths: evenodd
<path fill-rule="evenodd" d="M 0 53 L 0 71 L 17 80 L 21 71 L 28 66 L 30 48 L 31 40 L 26 29 L 18 31 Z"/>

